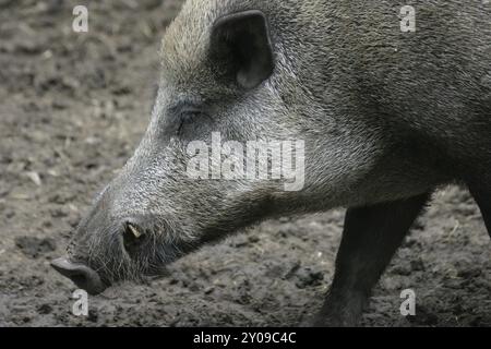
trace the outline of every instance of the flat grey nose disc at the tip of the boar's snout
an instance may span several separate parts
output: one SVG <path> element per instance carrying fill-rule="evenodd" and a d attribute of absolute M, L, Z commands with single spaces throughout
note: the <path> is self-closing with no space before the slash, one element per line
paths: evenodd
<path fill-rule="evenodd" d="M 72 263 L 67 258 L 58 258 L 51 262 L 51 266 L 89 294 L 99 294 L 108 287 L 96 272 L 84 264 Z"/>

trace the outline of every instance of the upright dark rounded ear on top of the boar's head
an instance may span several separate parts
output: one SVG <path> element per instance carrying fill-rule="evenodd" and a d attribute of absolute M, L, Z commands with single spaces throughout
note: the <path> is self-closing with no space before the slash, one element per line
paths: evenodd
<path fill-rule="evenodd" d="M 251 89 L 273 73 L 274 60 L 267 20 L 251 10 L 218 19 L 212 31 L 212 59 L 218 69 Z"/>

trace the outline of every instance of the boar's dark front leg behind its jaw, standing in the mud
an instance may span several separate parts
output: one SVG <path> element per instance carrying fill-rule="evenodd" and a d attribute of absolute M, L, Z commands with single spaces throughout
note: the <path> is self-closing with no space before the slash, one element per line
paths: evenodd
<path fill-rule="evenodd" d="M 348 209 L 333 285 L 314 326 L 358 324 L 372 288 L 429 197 Z"/>

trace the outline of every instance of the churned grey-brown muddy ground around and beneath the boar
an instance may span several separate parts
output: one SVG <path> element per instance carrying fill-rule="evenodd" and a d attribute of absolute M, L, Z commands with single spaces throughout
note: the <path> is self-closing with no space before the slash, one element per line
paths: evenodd
<path fill-rule="evenodd" d="M 89 298 L 49 261 L 148 121 L 158 46 L 180 1 L 0 0 L 0 326 L 295 326 L 321 305 L 343 210 L 268 221 Z M 417 293 L 403 317 L 399 296 Z M 491 242 L 466 190 L 447 188 L 397 253 L 366 326 L 491 326 Z"/>

